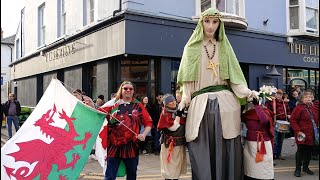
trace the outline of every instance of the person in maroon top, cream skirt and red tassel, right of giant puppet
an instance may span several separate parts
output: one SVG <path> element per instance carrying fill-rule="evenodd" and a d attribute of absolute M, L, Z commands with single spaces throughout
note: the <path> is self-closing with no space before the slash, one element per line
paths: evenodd
<path fill-rule="evenodd" d="M 248 128 L 243 150 L 244 179 L 274 179 L 274 113 L 256 99 L 253 104 L 241 117 Z"/>

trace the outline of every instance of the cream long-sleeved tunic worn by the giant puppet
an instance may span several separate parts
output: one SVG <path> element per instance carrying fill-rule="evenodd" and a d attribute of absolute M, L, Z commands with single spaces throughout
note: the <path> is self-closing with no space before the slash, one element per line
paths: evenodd
<path fill-rule="evenodd" d="M 214 70 L 208 69 L 209 58 L 205 51 L 204 45 L 207 46 L 209 56 L 213 54 L 213 43 L 216 43 L 215 56 L 213 57 Z M 191 94 L 202 88 L 213 86 L 213 85 L 227 85 L 227 81 L 220 79 L 219 76 L 219 44 L 215 40 L 204 40 L 201 58 L 199 64 L 199 81 L 185 82 L 183 83 L 183 94 L 182 101 L 187 104 L 190 103 L 188 109 L 188 116 L 186 122 L 186 140 L 187 142 L 193 141 L 198 137 L 200 123 L 206 109 L 207 100 L 210 95 L 210 99 L 218 99 L 220 113 L 221 113 L 221 123 L 223 138 L 231 139 L 240 135 L 240 103 L 236 96 L 239 98 L 251 97 L 253 96 L 253 91 L 248 89 L 244 85 L 237 85 L 231 83 L 230 86 L 233 90 L 232 93 L 228 90 L 222 90 L 218 92 L 208 92 L 200 94 L 192 99 Z M 216 66 L 217 65 L 217 66 Z M 216 76 L 217 75 L 217 76 Z M 235 96 L 236 95 L 236 96 Z"/>

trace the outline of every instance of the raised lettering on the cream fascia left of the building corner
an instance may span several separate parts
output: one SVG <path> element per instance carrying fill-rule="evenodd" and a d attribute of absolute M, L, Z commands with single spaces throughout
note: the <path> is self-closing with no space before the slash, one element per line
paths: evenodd
<path fill-rule="evenodd" d="M 70 54 L 73 54 L 75 52 L 75 45 L 76 43 L 71 43 L 47 52 L 45 54 L 46 62 L 55 61 L 63 57 L 69 56 Z"/>

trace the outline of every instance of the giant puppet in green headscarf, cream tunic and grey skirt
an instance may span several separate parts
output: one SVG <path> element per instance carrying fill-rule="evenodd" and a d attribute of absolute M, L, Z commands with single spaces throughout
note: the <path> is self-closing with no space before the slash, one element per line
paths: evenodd
<path fill-rule="evenodd" d="M 240 105 L 256 92 L 247 87 L 218 10 L 201 14 L 178 72 L 179 110 L 188 107 L 186 141 L 192 179 L 240 179 Z"/>

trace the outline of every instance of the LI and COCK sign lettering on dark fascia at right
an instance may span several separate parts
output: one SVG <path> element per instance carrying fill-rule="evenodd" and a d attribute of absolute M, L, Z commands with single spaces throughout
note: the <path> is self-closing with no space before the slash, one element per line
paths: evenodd
<path fill-rule="evenodd" d="M 304 55 L 302 60 L 306 63 L 319 64 L 319 46 L 289 43 L 290 53 Z"/>

